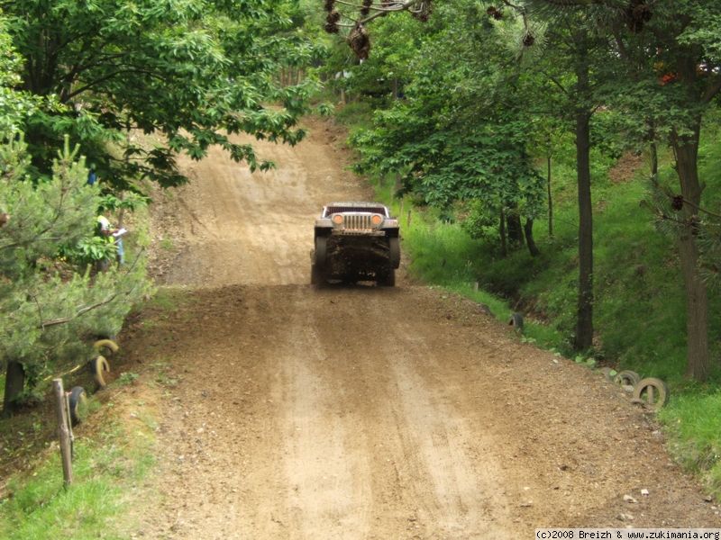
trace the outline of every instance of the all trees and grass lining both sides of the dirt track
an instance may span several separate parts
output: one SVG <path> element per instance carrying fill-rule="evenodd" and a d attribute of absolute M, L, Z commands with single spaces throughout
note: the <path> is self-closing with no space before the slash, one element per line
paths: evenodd
<path fill-rule="evenodd" d="M 151 466 L 151 416 L 79 437 L 63 491 L 48 381 L 153 293 L 141 214 L 150 185 L 186 181 L 178 153 L 272 166 L 230 136 L 297 143 L 317 79 L 413 274 L 523 312 L 541 347 L 666 380 L 671 452 L 721 494 L 717 3 L 561 4 L 5 3 L 0 535 L 127 537 L 108 524 Z M 133 225 L 123 266 L 99 213 Z"/>

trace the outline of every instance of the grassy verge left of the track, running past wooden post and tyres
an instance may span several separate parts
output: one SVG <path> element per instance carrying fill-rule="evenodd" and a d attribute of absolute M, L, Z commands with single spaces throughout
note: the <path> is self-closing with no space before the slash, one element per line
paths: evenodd
<path fill-rule="evenodd" d="M 184 293 L 160 289 L 141 316 L 131 316 L 133 330 L 151 334 L 186 304 Z M 74 482 L 68 490 L 62 486 L 50 399 L 0 420 L 0 539 L 120 540 L 138 530 L 134 516 L 143 505 L 138 498 L 151 494 L 139 486 L 155 463 L 157 404 L 176 383 L 163 346 L 160 341 L 143 347 L 147 357 L 140 374 L 129 371 L 124 348 L 112 359 L 118 378 L 89 398 L 87 418 L 75 428 Z M 68 376 L 67 386 L 88 387 L 87 376 Z"/>

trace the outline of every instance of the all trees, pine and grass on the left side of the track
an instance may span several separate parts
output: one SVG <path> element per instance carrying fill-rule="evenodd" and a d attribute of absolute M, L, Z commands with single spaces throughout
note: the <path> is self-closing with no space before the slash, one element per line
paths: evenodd
<path fill-rule="evenodd" d="M 156 186 L 187 181 L 178 155 L 218 146 L 266 169 L 232 136 L 303 139 L 315 79 L 300 74 L 318 53 L 303 16 L 287 0 L 0 8 L 1 537 L 128 537 L 109 524 L 151 464 L 151 430 L 78 430 L 64 491 L 50 380 L 87 374 L 98 338 L 122 347 L 154 293 L 147 205 Z M 121 228 L 124 257 L 110 237 Z"/>

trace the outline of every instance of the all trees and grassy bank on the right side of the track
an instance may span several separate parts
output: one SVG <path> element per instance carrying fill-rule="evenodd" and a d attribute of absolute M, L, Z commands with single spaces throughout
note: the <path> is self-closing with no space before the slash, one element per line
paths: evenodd
<path fill-rule="evenodd" d="M 329 4 L 351 29 L 377 13 Z M 665 380 L 671 453 L 719 494 L 717 9 L 552 4 L 419 2 L 366 23 L 360 55 L 331 28 L 349 36 L 324 67 L 335 119 L 413 275 L 523 313 L 540 347 Z"/>

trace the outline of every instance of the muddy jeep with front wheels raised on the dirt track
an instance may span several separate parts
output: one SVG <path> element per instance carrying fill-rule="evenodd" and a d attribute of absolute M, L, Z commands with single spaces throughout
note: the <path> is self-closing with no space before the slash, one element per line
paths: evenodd
<path fill-rule="evenodd" d="M 315 220 L 311 283 L 375 281 L 392 287 L 400 265 L 398 220 L 379 202 L 331 202 Z"/>

